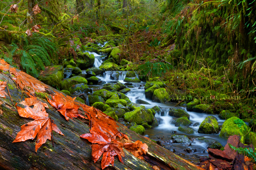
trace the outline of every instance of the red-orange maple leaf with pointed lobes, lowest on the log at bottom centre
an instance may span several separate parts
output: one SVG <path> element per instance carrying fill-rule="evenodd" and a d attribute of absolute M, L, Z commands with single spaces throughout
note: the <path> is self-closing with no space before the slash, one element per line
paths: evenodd
<path fill-rule="evenodd" d="M 110 164 L 114 164 L 114 156 L 118 156 L 120 162 L 123 163 L 123 144 L 114 139 L 114 137 L 108 137 L 107 135 L 99 135 L 90 129 L 91 134 L 83 134 L 80 137 L 87 139 L 93 143 L 92 148 L 92 160 L 94 163 L 102 156 L 101 168 L 104 169 Z"/>

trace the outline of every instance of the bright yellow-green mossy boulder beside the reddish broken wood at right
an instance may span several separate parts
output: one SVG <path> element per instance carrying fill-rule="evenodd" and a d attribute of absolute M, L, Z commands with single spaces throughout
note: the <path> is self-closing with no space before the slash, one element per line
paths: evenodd
<path fill-rule="evenodd" d="M 232 117 L 224 121 L 219 136 L 228 139 L 229 136 L 238 135 L 240 142 L 244 143 L 249 130 L 249 126 L 243 123 L 241 119 Z"/>

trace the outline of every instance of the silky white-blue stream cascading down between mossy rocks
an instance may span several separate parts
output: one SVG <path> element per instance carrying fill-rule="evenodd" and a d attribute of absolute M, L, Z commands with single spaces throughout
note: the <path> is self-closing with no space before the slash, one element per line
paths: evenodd
<path fill-rule="evenodd" d="M 104 46 L 104 45 L 101 45 Z M 85 51 L 89 52 L 89 51 Z M 100 67 L 102 62 L 107 59 L 106 55 L 100 55 L 95 52 L 89 52 L 95 56 L 95 62 L 92 67 Z M 86 70 L 82 70 L 82 73 L 85 73 Z M 93 93 L 102 88 L 103 84 L 106 83 L 117 83 L 117 81 L 125 84 L 124 78 L 126 77 L 126 71 L 119 71 L 119 78 L 118 80 L 111 79 L 111 74 L 117 71 L 106 71 L 96 77 L 101 79 L 98 84 L 100 85 L 88 85 Z M 64 70 L 64 78 L 69 78 L 71 75 L 71 70 L 65 69 Z M 130 91 L 125 95 L 129 97 L 131 102 L 136 103 L 136 100 L 140 99 L 143 101 L 148 102 L 149 104 L 142 104 L 145 106 L 146 109 L 152 108 L 154 106 L 159 106 L 161 108 L 160 112 L 155 114 L 155 117 L 159 120 L 159 126 L 153 127 L 151 129 L 145 129 L 145 136 L 149 137 L 151 140 L 157 141 L 157 143 L 166 149 L 178 154 L 180 157 L 192 162 L 196 163 L 199 162 L 199 157 L 207 157 L 207 147 L 209 146 L 209 142 L 205 140 L 200 140 L 199 137 L 204 137 L 208 139 L 208 141 L 218 141 L 222 146 L 226 145 L 227 140 L 220 138 L 219 134 L 200 134 L 198 133 L 199 125 L 202 121 L 210 116 L 210 114 L 206 113 L 197 113 L 197 112 L 189 112 L 186 109 L 186 106 L 175 107 L 177 103 L 156 103 L 152 100 L 148 100 L 144 94 L 144 86 L 146 82 L 141 83 L 132 83 L 133 87 L 130 88 Z M 75 92 L 74 96 L 78 96 L 82 94 L 82 92 Z M 85 104 L 89 105 L 88 97 L 85 96 Z M 190 121 L 192 124 L 190 125 L 191 128 L 194 130 L 194 134 L 188 135 L 178 130 L 174 124 L 174 120 L 177 119 L 175 117 L 171 117 L 168 114 L 170 108 L 181 108 L 185 110 L 188 114 L 190 114 Z M 218 119 L 219 126 L 222 126 L 224 120 L 220 120 L 218 115 L 212 115 Z M 196 124 L 197 123 L 197 124 Z M 174 143 L 172 139 L 172 135 L 186 135 L 191 142 L 189 143 Z"/>

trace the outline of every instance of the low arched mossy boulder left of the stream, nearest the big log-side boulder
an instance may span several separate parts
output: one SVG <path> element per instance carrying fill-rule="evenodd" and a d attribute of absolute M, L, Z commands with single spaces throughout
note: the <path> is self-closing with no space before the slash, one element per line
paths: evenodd
<path fill-rule="evenodd" d="M 81 76 L 74 76 L 65 80 L 60 81 L 63 90 L 69 90 L 69 88 L 75 84 L 84 83 L 87 84 L 87 80 Z"/>

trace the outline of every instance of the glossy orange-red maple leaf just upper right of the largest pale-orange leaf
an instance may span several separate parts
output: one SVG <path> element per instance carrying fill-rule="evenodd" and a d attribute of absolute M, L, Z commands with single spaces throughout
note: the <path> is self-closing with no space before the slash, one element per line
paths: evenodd
<path fill-rule="evenodd" d="M 78 113 L 78 108 L 80 107 L 79 105 L 75 104 L 75 98 L 72 97 L 65 97 L 63 94 L 61 93 L 56 93 L 54 96 L 52 96 L 52 100 L 50 100 L 49 98 L 47 98 L 47 101 L 56 109 L 58 109 L 58 111 L 65 116 L 66 120 L 69 120 L 69 118 L 73 119 L 73 118 L 84 118 L 84 116 L 80 115 Z"/>

